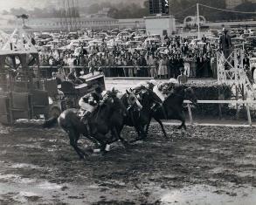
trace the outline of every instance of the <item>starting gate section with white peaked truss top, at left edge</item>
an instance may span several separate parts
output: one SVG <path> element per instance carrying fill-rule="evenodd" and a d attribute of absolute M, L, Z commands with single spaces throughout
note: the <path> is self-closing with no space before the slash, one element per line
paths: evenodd
<path fill-rule="evenodd" d="M 12 124 L 48 113 L 48 93 L 38 71 L 38 51 L 22 29 L 0 50 L 0 122 Z"/>

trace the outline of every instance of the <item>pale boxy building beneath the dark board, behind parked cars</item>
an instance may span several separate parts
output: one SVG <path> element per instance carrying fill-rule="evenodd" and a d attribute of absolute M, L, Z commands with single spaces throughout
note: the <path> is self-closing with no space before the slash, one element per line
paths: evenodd
<path fill-rule="evenodd" d="M 148 34 L 172 35 L 176 32 L 176 21 L 173 16 L 144 17 Z"/>

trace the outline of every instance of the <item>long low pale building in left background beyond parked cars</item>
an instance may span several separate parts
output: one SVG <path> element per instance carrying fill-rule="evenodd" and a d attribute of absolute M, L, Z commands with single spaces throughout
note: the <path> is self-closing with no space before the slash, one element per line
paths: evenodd
<path fill-rule="evenodd" d="M 11 32 L 21 24 L 16 18 L 0 19 L 0 30 Z M 80 17 L 80 18 L 29 18 L 25 21 L 30 31 L 75 31 L 80 29 L 112 30 L 146 28 L 145 19 L 128 18 L 114 19 L 111 17 Z"/>

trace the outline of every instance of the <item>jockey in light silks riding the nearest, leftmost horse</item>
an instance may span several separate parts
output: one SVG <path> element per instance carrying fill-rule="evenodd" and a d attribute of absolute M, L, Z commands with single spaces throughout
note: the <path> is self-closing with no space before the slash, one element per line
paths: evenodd
<path fill-rule="evenodd" d="M 81 120 L 87 122 L 88 117 L 93 113 L 93 111 L 100 104 L 100 100 L 102 97 L 102 89 L 100 86 L 95 88 L 94 92 L 86 94 L 84 97 L 80 99 L 79 105 L 81 110 Z"/>

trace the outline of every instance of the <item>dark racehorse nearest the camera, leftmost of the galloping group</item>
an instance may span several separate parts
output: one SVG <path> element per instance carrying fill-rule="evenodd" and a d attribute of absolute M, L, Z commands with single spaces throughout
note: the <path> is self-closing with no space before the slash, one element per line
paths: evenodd
<path fill-rule="evenodd" d="M 107 144 L 111 144 L 116 140 L 124 142 L 117 134 L 115 127 L 122 125 L 121 116 L 124 116 L 124 113 L 126 113 L 126 108 L 122 105 L 121 100 L 116 97 L 114 90 L 107 92 L 101 105 L 90 116 L 88 120 L 89 129 L 80 120 L 78 111 L 78 109 L 67 109 L 60 114 L 58 123 L 68 133 L 70 145 L 81 159 L 85 159 L 86 154 L 78 147 L 80 134 L 94 143 L 99 142 L 101 151 L 105 150 Z M 106 137 L 106 134 L 109 132 L 112 133 L 111 139 Z"/>

